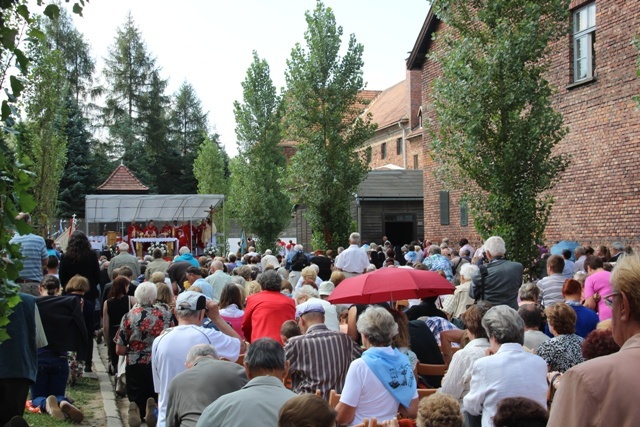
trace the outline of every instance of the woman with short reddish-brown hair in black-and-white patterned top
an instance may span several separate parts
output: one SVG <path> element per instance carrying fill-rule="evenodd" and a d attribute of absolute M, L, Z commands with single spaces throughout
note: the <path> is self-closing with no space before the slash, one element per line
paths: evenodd
<path fill-rule="evenodd" d="M 584 362 L 584 339 L 575 334 L 576 312 L 565 303 L 556 303 L 547 307 L 545 313 L 554 338 L 540 344 L 538 356 L 547 362 L 549 371 L 564 373 L 574 365 Z"/>

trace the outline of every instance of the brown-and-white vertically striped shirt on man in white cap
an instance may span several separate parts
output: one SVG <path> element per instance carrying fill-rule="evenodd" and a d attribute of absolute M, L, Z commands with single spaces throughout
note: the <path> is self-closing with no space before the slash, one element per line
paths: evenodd
<path fill-rule="evenodd" d="M 329 399 L 334 389 L 341 393 L 351 362 L 362 350 L 341 332 L 331 331 L 324 323 L 315 324 L 304 335 L 293 337 L 285 345 L 292 390 L 297 394 L 322 392 Z"/>

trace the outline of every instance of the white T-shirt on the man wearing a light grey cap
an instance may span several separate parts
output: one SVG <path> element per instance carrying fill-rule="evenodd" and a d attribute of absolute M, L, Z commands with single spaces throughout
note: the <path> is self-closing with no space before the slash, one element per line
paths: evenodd
<path fill-rule="evenodd" d="M 212 344 L 218 355 L 235 361 L 240 354 L 240 340 L 215 329 L 181 325 L 167 329 L 153 341 L 151 363 L 153 387 L 158 393 L 158 427 L 165 427 L 169 383 L 187 367 L 187 353 L 196 344 Z"/>

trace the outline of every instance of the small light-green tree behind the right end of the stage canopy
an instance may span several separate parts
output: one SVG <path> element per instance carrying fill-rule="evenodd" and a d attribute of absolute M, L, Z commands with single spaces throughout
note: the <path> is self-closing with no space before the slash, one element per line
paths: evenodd
<path fill-rule="evenodd" d="M 198 194 L 226 194 L 227 177 L 225 176 L 224 150 L 217 140 L 217 134 L 207 136 L 193 162 L 193 175 L 198 181 Z"/>

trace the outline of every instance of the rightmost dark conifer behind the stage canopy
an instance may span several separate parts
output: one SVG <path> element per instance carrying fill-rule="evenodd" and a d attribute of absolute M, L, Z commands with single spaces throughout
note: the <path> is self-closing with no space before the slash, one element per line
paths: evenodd
<path fill-rule="evenodd" d="M 173 159 L 179 167 L 178 180 L 173 184 L 179 193 L 195 193 L 198 181 L 193 165 L 198 149 L 209 133 L 209 125 L 195 89 L 187 82 L 183 82 L 174 95 L 169 132 L 171 144 L 179 155 Z"/>

